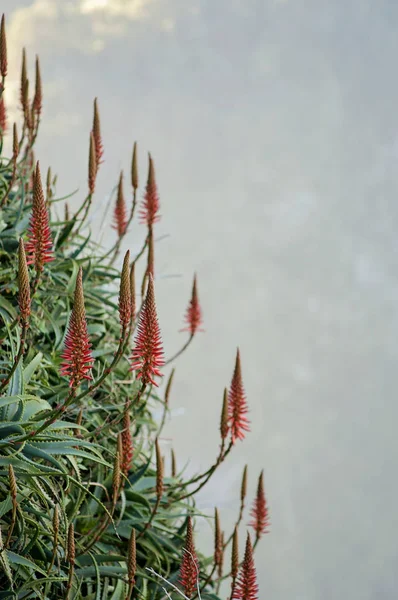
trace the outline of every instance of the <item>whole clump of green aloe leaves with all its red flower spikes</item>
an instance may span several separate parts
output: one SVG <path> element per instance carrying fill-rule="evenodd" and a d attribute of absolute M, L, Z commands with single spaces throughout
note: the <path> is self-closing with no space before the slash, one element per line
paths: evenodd
<path fill-rule="evenodd" d="M 220 452 L 190 480 L 164 472 L 158 443 L 178 356 L 163 356 L 155 302 L 153 231 L 159 194 L 153 160 L 139 202 L 137 145 L 132 202 L 117 186 L 117 242 L 104 250 L 85 227 L 103 144 L 97 102 L 90 133 L 88 192 L 75 214 L 43 185 L 34 143 L 42 111 L 40 65 L 30 86 L 23 52 L 21 125 L 7 124 L 5 19 L 0 35 L 0 599 L 165 598 L 167 594 L 255 600 L 250 538 L 240 567 L 237 531 L 224 537 L 215 512 L 214 554 L 195 549 L 194 497 L 249 429 L 240 356 L 220 406 Z M 32 87 L 34 87 L 32 93 Z M 30 92 L 29 92 L 30 89 Z M 31 96 L 30 96 L 31 94 Z M 9 156 L 3 141 L 9 137 Z M 12 143 L 11 143 L 12 140 Z M 62 201 L 62 202 L 61 202 Z M 60 204 L 61 202 L 61 204 Z M 59 207 L 65 204 L 65 216 Z M 137 208 L 137 205 L 138 209 Z M 137 256 L 121 242 L 136 213 L 146 228 Z M 136 265 L 144 264 L 136 291 Z M 201 329 L 196 277 L 187 342 Z M 180 353 L 178 353 L 180 354 Z M 158 393 L 163 373 L 167 383 Z M 160 424 L 152 417 L 162 407 Z M 267 531 L 263 476 L 252 509 L 254 546 Z M 230 565 L 224 560 L 231 546 Z M 228 556 L 229 556 L 228 554 Z M 173 587 L 174 586 L 174 587 Z M 166 591 L 167 593 L 166 593 Z"/>

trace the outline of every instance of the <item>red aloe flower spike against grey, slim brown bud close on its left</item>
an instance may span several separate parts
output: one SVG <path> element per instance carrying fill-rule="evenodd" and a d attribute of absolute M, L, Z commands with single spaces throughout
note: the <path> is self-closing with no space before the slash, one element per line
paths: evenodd
<path fill-rule="evenodd" d="M 235 370 L 232 376 L 231 387 L 228 394 L 228 423 L 231 430 L 232 443 L 237 439 L 243 440 L 246 431 L 250 431 L 246 394 L 243 387 L 242 371 L 240 365 L 239 348 L 236 353 Z"/>

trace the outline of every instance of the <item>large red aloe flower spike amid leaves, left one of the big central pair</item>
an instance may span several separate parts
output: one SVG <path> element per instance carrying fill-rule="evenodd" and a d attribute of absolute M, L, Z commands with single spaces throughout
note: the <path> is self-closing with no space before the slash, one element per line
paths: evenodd
<path fill-rule="evenodd" d="M 76 388 L 83 379 L 92 379 L 90 371 L 94 362 L 87 333 L 86 311 L 83 295 L 83 271 L 80 267 L 77 279 L 72 314 L 62 354 L 61 375 L 69 377 L 69 386 Z"/>

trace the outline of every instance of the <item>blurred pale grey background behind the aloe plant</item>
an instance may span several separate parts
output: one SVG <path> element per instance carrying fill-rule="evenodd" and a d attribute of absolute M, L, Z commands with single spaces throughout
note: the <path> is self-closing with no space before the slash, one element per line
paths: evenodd
<path fill-rule="evenodd" d="M 133 141 L 141 182 L 153 154 L 166 353 L 185 340 L 194 270 L 205 318 L 177 365 L 163 440 L 190 472 L 217 453 L 240 346 L 252 432 L 199 504 L 210 514 L 216 503 L 231 527 L 244 464 L 250 501 L 265 469 L 260 597 L 396 598 L 398 4 L 2 0 L 1 10 L 10 119 L 25 45 L 45 81 L 37 157 L 59 173 L 59 194 L 84 197 L 94 96 L 105 145 L 95 224 Z M 104 242 L 114 235 L 108 227 Z M 136 225 L 125 247 L 142 236 Z M 210 525 L 199 534 L 211 552 Z"/>

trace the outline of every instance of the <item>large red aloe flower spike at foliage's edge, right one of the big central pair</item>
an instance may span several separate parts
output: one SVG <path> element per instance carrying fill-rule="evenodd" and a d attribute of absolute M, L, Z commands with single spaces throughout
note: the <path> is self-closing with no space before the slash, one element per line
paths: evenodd
<path fill-rule="evenodd" d="M 164 365 L 164 357 L 152 275 L 149 275 L 148 289 L 140 312 L 131 361 L 130 371 L 137 371 L 137 379 L 141 379 L 144 385 L 148 383 L 158 385 L 154 377 L 162 376 L 159 367 Z"/>

